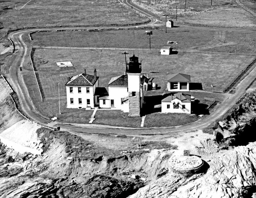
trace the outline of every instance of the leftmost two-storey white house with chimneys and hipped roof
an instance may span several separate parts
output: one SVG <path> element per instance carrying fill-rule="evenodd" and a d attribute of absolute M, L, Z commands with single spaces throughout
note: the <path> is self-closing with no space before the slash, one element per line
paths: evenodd
<path fill-rule="evenodd" d="M 97 96 L 95 96 L 97 87 L 99 87 L 99 76 L 96 69 L 94 75 L 86 74 L 84 70 L 84 73 L 69 78 L 66 83 L 67 108 L 94 108 L 97 104 Z"/>

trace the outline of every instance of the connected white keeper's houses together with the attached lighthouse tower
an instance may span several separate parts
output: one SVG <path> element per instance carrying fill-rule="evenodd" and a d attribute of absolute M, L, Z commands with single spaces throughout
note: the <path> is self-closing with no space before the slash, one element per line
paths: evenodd
<path fill-rule="evenodd" d="M 131 117 L 140 116 L 148 81 L 149 78 L 141 75 L 141 63 L 135 55 L 130 57 L 124 75 L 111 78 L 108 92 L 105 87 L 99 87 L 96 69 L 94 75 L 84 70 L 66 83 L 67 108 L 110 108 L 128 112 Z"/>

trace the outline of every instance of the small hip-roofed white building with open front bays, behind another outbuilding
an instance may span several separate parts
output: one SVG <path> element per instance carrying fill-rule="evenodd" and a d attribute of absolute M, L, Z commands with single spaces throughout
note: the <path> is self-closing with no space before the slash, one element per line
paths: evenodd
<path fill-rule="evenodd" d="M 189 91 L 190 75 L 170 74 L 168 75 L 168 91 Z"/>

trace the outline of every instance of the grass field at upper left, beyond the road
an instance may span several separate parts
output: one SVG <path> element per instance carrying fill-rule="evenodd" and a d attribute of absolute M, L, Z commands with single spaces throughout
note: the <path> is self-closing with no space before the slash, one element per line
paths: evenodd
<path fill-rule="evenodd" d="M 148 18 L 119 0 L 0 1 L 0 38 L 8 30 L 32 27 L 112 26 L 145 23 Z M 15 9 L 15 5 L 17 9 Z"/>

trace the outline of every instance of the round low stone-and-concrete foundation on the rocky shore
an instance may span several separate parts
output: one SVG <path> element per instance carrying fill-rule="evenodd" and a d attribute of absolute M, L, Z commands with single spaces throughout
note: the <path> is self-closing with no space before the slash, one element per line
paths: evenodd
<path fill-rule="evenodd" d="M 174 172 L 183 174 L 199 173 L 204 162 L 199 157 L 192 156 L 172 156 L 168 161 L 168 167 Z"/>

